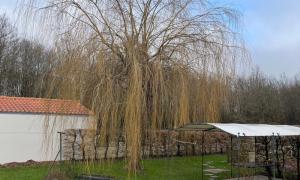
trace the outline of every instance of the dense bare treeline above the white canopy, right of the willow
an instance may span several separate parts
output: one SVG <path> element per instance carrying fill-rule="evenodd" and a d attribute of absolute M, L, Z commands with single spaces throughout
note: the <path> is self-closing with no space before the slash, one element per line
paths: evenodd
<path fill-rule="evenodd" d="M 234 80 L 222 121 L 299 124 L 300 78 L 279 79 L 259 71 Z"/>

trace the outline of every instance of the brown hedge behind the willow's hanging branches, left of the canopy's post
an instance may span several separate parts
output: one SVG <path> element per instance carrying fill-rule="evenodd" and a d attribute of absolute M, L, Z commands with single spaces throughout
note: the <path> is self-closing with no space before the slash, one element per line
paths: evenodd
<path fill-rule="evenodd" d="M 143 141 L 143 157 L 186 156 L 202 154 L 202 131 L 159 130 Z M 98 160 L 123 158 L 126 155 L 124 137 L 109 144 L 96 145 L 94 130 L 69 129 L 63 138 L 63 155 L 66 160 Z M 154 134 L 154 135 L 153 135 Z M 151 137 L 151 138 L 150 138 Z M 206 132 L 204 154 L 224 153 L 228 149 L 228 135 Z"/>

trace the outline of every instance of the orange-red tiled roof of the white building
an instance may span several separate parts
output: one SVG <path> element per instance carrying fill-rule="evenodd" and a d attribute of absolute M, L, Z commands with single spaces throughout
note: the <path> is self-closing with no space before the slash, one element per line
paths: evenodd
<path fill-rule="evenodd" d="M 78 101 L 0 96 L 0 113 L 89 115 Z"/>

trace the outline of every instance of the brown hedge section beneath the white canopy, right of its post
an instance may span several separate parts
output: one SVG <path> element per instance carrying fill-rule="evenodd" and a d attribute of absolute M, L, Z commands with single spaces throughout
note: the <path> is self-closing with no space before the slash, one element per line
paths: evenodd
<path fill-rule="evenodd" d="M 240 137 L 232 138 L 233 164 L 277 164 L 284 166 L 287 162 L 296 160 L 295 139 L 292 137 Z M 229 143 L 230 144 L 230 143 Z M 231 161 L 231 160 L 230 160 Z"/>

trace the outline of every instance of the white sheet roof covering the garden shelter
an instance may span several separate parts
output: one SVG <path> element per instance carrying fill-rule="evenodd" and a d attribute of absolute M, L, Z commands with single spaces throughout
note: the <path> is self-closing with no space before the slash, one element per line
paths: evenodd
<path fill-rule="evenodd" d="M 289 125 L 208 123 L 235 136 L 300 136 L 300 128 Z"/>

